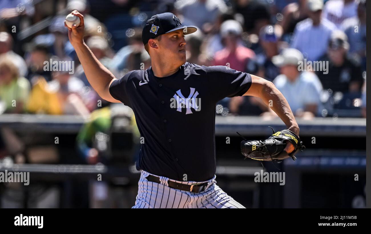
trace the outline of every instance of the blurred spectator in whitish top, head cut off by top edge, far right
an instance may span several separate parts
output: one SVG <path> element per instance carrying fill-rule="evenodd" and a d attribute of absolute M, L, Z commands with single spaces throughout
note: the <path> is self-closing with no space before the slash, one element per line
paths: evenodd
<path fill-rule="evenodd" d="M 324 6 L 322 17 L 340 28 L 345 19 L 357 16 L 357 6 L 358 0 L 329 0 Z"/>

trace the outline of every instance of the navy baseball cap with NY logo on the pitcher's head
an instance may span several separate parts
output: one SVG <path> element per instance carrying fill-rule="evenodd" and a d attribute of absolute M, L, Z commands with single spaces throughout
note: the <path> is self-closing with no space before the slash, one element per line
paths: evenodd
<path fill-rule="evenodd" d="M 184 26 L 173 13 L 165 12 L 151 17 L 143 27 L 142 41 L 147 44 L 148 40 L 154 39 L 162 34 L 170 33 L 179 29 L 184 30 L 184 34 L 191 34 L 197 31 L 196 26 Z"/>

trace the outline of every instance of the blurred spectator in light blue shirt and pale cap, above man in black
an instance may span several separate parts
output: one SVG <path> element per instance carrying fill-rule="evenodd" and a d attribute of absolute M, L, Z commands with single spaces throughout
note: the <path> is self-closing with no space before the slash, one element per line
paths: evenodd
<path fill-rule="evenodd" d="M 300 50 L 308 60 L 315 61 L 326 53 L 336 26 L 321 18 L 323 0 L 308 0 L 307 7 L 309 18 L 296 25 L 291 47 Z"/>

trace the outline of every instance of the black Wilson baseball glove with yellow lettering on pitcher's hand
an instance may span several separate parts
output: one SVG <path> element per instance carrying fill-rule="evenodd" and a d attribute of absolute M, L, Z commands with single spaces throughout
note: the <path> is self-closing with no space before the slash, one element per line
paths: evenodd
<path fill-rule="evenodd" d="M 288 142 L 295 147 L 295 150 L 289 154 L 284 150 Z M 298 153 L 299 150 L 303 151 L 304 149 L 305 146 L 303 146 L 303 142 L 300 141 L 299 136 L 296 136 L 295 133 L 288 129 L 276 133 L 274 133 L 273 130 L 272 136 L 264 141 L 243 140 L 241 142 L 241 153 L 246 156 L 246 158 L 260 161 L 282 160 L 289 157 L 295 161 L 295 154 Z"/>

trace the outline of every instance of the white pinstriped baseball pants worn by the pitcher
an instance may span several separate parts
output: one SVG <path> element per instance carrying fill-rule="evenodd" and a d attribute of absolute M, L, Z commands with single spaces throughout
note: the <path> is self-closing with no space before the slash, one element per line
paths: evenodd
<path fill-rule="evenodd" d="M 132 208 L 245 208 L 216 185 L 216 176 L 208 181 L 197 182 L 209 183 L 204 192 L 191 193 L 168 187 L 169 178 L 166 177 L 157 176 L 160 177 L 161 184 L 148 181 L 145 177 L 150 174 L 141 170 L 138 195 Z M 196 183 L 172 179 L 170 181 L 182 184 Z"/>

